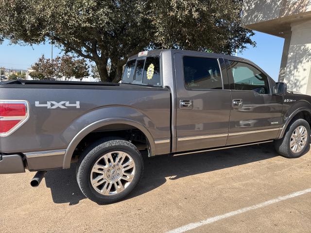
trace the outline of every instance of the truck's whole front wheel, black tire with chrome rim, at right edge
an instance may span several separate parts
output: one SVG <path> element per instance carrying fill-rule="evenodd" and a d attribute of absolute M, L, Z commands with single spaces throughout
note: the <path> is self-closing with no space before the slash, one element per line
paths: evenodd
<path fill-rule="evenodd" d="M 310 148 L 310 125 L 304 119 L 295 120 L 283 138 L 275 141 L 276 151 L 287 158 L 298 158 Z"/>

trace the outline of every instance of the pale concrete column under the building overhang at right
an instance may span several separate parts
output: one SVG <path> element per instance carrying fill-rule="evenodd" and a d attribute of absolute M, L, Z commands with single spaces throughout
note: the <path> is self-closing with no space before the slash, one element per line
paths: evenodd
<path fill-rule="evenodd" d="M 286 71 L 283 75 L 281 67 L 279 80 L 284 77 L 289 91 L 311 95 L 311 20 L 293 23 L 291 27 Z M 285 44 L 283 53 L 286 53 Z"/>

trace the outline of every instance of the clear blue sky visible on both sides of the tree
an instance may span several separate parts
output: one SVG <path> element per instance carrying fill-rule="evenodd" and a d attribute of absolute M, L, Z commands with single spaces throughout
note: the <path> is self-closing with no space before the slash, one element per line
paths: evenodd
<path fill-rule="evenodd" d="M 265 33 L 255 33 L 252 39 L 256 41 L 257 47 L 248 46 L 242 53 L 238 53 L 238 56 L 256 63 L 277 81 L 284 39 Z M 60 52 L 59 49 L 53 47 L 53 57 L 59 55 Z M 9 41 L 6 40 L 0 45 L 0 67 L 27 69 L 42 54 L 51 58 L 51 45 L 49 43 L 31 47 L 9 45 Z"/>

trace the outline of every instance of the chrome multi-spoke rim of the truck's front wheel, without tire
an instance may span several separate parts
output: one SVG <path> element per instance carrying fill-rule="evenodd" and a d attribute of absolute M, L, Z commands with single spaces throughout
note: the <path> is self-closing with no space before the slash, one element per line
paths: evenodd
<path fill-rule="evenodd" d="M 298 126 L 291 136 L 290 147 L 294 153 L 299 153 L 307 143 L 308 132 L 306 127 Z"/>

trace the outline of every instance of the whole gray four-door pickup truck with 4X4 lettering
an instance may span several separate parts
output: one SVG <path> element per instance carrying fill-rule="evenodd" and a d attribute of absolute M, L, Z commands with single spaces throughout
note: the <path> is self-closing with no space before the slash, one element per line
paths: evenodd
<path fill-rule="evenodd" d="M 195 156 L 274 141 L 295 158 L 309 150 L 310 124 L 311 97 L 248 60 L 144 51 L 128 59 L 121 83 L 0 83 L 0 173 L 37 171 L 37 186 L 47 170 L 77 162 L 84 195 L 111 203 L 137 185 L 142 153 Z"/>

